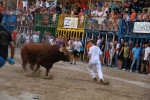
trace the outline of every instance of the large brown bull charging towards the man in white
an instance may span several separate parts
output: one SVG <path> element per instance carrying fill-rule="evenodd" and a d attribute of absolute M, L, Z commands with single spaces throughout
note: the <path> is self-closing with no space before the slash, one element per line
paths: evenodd
<path fill-rule="evenodd" d="M 34 66 L 37 64 L 36 72 L 40 65 L 46 68 L 45 78 L 48 78 L 49 70 L 53 64 L 58 61 L 70 61 L 69 52 L 66 48 L 60 48 L 58 45 L 48 44 L 28 44 L 21 50 L 22 67 L 26 72 L 27 63 L 30 64 L 30 68 L 34 70 Z"/>

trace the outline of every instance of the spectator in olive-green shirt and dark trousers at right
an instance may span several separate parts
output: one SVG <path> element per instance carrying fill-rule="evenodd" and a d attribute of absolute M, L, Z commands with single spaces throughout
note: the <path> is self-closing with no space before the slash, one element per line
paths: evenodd
<path fill-rule="evenodd" d="M 124 69 L 123 70 L 128 69 L 128 57 L 129 57 L 129 47 L 128 47 L 128 43 L 125 42 L 124 50 L 123 50 L 123 64 L 124 64 Z"/>

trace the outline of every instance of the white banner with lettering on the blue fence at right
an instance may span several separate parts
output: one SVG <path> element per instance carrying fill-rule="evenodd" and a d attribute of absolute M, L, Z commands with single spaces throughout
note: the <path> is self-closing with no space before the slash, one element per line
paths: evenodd
<path fill-rule="evenodd" d="M 150 33 L 150 22 L 135 22 L 134 33 Z"/>

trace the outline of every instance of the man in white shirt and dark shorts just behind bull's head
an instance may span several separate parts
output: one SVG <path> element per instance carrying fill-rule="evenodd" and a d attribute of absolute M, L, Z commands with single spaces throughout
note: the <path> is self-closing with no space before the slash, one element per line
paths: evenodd
<path fill-rule="evenodd" d="M 82 47 L 81 41 L 79 41 L 79 38 L 76 38 L 76 41 L 73 43 L 73 48 L 74 48 L 73 53 L 74 53 L 74 60 L 75 60 L 74 65 L 76 65 L 76 61 L 79 58 L 81 47 Z M 72 64 L 72 61 L 70 64 Z"/>

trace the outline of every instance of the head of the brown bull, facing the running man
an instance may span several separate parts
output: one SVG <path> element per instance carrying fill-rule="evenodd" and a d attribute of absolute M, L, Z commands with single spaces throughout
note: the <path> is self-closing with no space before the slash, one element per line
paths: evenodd
<path fill-rule="evenodd" d="M 66 48 L 64 48 L 64 47 L 61 47 L 59 49 L 59 51 L 61 52 L 61 60 L 69 62 L 70 61 L 70 56 L 69 56 L 68 50 Z"/>

